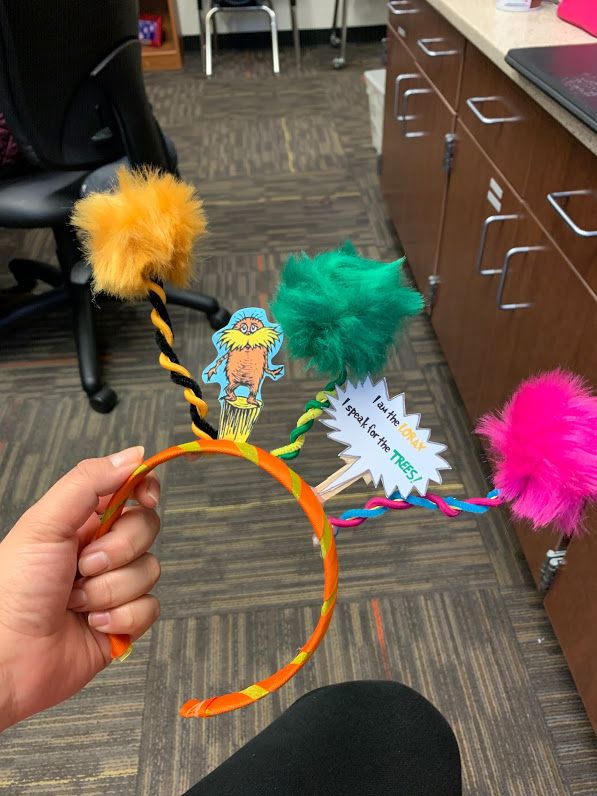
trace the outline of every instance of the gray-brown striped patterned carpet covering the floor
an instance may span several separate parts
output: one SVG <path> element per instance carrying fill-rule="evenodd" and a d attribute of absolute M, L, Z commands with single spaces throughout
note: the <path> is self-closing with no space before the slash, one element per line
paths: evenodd
<path fill-rule="evenodd" d="M 201 288 L 230 309 L 264 306 L 295 249 L 351 238 L 367 256 L 396 258 L 362 80 L 364 69 L 379 66 L 378 49 L 351 46 L 343 72 L 330 69 L 328 48 L 314 48 L 301 75 L 284 50 L 278 79 L 266 51 L 221 54 L 209 83 L 196 56 L 181 73 L 148 77 L 182 174 L 200 189 L 211 221 Z M 51 258 L 51 239 L 0 231 L 0 253 L 3 261 Z M 8 284 L 4 270 L 0 284 Z M 90 411 L 79 390 L 66 313 L 1 341 L 5 529 L 80 458 L 134 443 L 154 452 L 191 437 L 178 391 L 156 365 L 147 308 L 99 305 L 104 366 L 120 397 L 109 416 Z M 172 318 L 181 359 L 200 371 L 212 358 L 207 323 L 178 308 Z M 453 469 L 442 493 L 483 493 L 471 428 L 425 318 L 411 325 L 387 375 L 449 447 Z M 282 444 L 319 387 L 291 364 L 282 382 L 266 385 L 270 400 L 253 441 Z M 296 469 L 316 484 L 338 452 L 319 426 Z M 2 736 L 1 792 L 176 796 L 305 691 L 396 678 L 453 725 L 467 794 L 597 793 L 595 737 L 498 512 L 478 520 L 395 513 L 344 532 L 337 613 L 313 661 L 255 707 L 180 719 L 186 698 L 244 687 L 289 658 L 314 623 L 321 567 L 295 506 L 251 468 L 177 461 L 161 477 L 162 618 L 125 664 Z M 333 506 L 366 495 L 355 486 Z"/>

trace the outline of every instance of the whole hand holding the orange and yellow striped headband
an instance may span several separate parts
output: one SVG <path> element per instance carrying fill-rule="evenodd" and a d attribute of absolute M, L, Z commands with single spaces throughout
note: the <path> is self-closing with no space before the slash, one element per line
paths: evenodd
<path fill-rule="evenodd" d="M 110 533 L 99 514 L 143 448 L 88 459 L 32 506 L 0 544 L 0 730 L 79 691 L 110 663 L 106 633 L 139 638 L 159 616 L 147 551 L 160 521 L 149 475 Z"/>

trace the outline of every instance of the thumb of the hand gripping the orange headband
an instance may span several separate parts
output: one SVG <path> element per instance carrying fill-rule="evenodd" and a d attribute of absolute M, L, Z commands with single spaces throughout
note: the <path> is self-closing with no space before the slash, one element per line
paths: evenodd
<path fill-rule="evenodd" d="M 73 536 L 96 511 L 99 498 L 115 492 L 141 464 L 143 454 L 137 446 L 79 462 L 29 509 L 24 532 L 52 542 Z"/>

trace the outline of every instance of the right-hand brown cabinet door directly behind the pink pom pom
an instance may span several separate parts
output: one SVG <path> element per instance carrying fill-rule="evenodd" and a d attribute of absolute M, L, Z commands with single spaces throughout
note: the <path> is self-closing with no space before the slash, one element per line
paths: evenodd
<path fill-rule="evenodd" d="M 486 307 L 491 326 L 477 413 L 503 404 L 528 376 L 564 367 L 597 386 L 597 297 L 534 218 L 517 223 L 498 289 Z M 535 580 L 556 533 L 515 529 Z"/>

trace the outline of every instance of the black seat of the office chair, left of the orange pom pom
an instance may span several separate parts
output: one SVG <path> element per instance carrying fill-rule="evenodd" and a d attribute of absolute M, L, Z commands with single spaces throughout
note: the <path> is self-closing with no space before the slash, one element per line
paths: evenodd
<path fill-rule="evenodd" d="M 0 182 L 0 227 L 65 224 L 88 171 L 46 171 Z"/>

